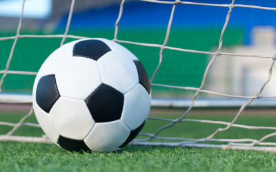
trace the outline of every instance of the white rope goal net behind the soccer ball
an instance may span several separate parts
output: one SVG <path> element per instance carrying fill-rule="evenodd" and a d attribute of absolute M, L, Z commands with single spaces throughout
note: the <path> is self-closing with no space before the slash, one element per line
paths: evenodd
<path fill-rule="evenodd" d="M 10 56 L 8 57 L 8 61 L 6 63 L 6 69 L 1 70 L 0 74 L 3 74 L 0 80 L 0 94 L 1 94 L 1 87 L 3 85 L 3 82 L 7 76 L 7 74 L 23 74 L 23 75 L 37 75 L 37 72 L 26 72 L 26 71 L 12 71 L 9 70 L 10 67 L 10 62 L 12 61 L 12 55 L 14 52 L 14 48 L 17 45 L 17 40 L 21 38 L 62 38 L 61 41 L 61 46 L 63 43 L 66 41 L 67 38 L 72 38 L 72 39 L 86 39 L 87 37 L 83 36 L 75 36 L 75 35 L 69 35 L 68 31 L 70 28 L 70 21 L 72 19 L 72 12 L 74 9 L 74 4 L 75 0 L 72 0 L 71 7 L 70 7 L 70 12 L 68 16 L 68 22 L 66 25 L 66 31 L 64 34 L 56 34 L 56 35 L 21 35 L 20 34 L 20 29 L 21 29 L 21 23 L 22 23 L 22 16 L 23 16 L 23 9 L 24 9 L 24 4 L 26 0 L 23 0 L 23 5 L 22 5 L 22 10 L 21 10 L 21 17 L 19 19 L 19 25 L 17 28 L 17 34 L 15 36 L 8 36 L 8 37 L 2 37 L 0 38 L 0 41 L 8 40 L 8 39 L 14 39 L 14 43 L 12 45 L 12 49 L 10 50 Z M 141 45 L 141 46 L 147 46 L 147 47 L 160 47 L 160 52 L 159 52 L 159 64 L 157 65 L 157 68 L 155 69 L 155 72 L 152 74 L 152 77 L 150 78 L 150 83 L 152 86 L 158 86 L 158 87 L 169 87 L 169 88 L 175 88 L 175 89 L 186 89 L 186 90 L 193 90 L 195 91 L 195 95 L 192 98 L 192 102 L 190 104 L 190 107 L 186 110 L 186 113 L 181 116 L 181 118 L 177 118 L 175 120 L 172 119 L 166 119 L 166 118 L 155 118 L 155 117 L 148 117 L 148 120 L 163 120 L 163 121 L 168 121 L 170 124 L 164 125 L 163 127 L 157 129 L 155 133 L 139 133 L 139 136 L 147 136 L 147 138 L 144 139 L 136 139 L 130 142 L 130 144 L 136 144 L 136 145 L 152 145 L 152 146 L 168 146 L 168 147 L 215 147 L 215 148 L 221 148 L 221 149 L 252 149 L 252 150 L 257 150 L 257 151 L 270 151 L 270 152 L 276 152 L 276 142 L 264 142 L 267 138 L 276 136 L 276 132 L 273 132 L 264 136 L 263 138 L 259 140 L 255 139 L 250 139 L 250 138 L 243 138 L 243 139 L 216 139 L 214 138 L 217 133 L 226 131 L 230 129 L 230 127 L 239 127 L 239 128 L 244 128 L 244 129 L 271 129 L 271 130 L 276 130 L 276 127 L 257 127 L 257 126 L 248 126 L 248 125 L 237 125 L 235 124 L 236 120 L 241 116 L 242 111 L 250 105 L 250 103 L 253 102 L 255 99 L 259 98 L 276 98 L 276 96 L 260 96 L 262 94 L 262 91 L 266 84 L 270 81 L 270 78 L 273 73 L 273 66 L 275 64 L 275 54 L 272 54 L 270 56 L 262 56 L 262 55 L 249 55 L 249 54 L 233 54 L 233 53 L 227 53 L 227 52 L 221 52 L 221 46 L 223 43 L 223 36 L 224 32 L 226 30 L 226 27 L 228 25 L 228 21 L 230 19 L 230 14 L 235 7 L 241 7 L 241 8 L 257 8 L 257 9 L 262 9 L 262 10 L 276 10 L 276 8 L 268 8 L 268 7 L 262 7 L 262 6 L 248 6 L 248 5 L 242 5 L 242 4 L 234 4 L 235 0 L 232 1 L 230 4 L 212 4 L 212 3 L 195 3 L 195 2 L 189 2 L 189 1 L 156 1 L 156 0 L 141 0 L 141 1 L 148 1 L 150 3 L 166 3 L 168 5 L 172 5 L 172 11 L 170 14 L 170 19 L 168 21 L 168 28 L 166 31 L 166 36 L 164 39 L 164 43 L 162 45 L 159 44 L 152 44 L 152 43 L 137 43 L 137 42 L 132 42 L 132 41 L 123 41 L 117 39 L 117 34 L 118 34 L 118 25 L 119 21 L 121 19 L 121 16 L 123 14 L 124 10 L 124 2 L 125 0 L 121 1 L 121 6 L 119 10 L 119 16 L 117 18 L 117 21 L 115 22 L 115 36 L 112 41 L 116 43 L 129 43 L 129 44 L 134 44 L 134 45 Z M 219 39 L 219 47 L 217 49 L 217 52 L 203 52 L 203 51 L 197 51 L 197 50 L 186 50 L 178 47 L 169 47 L 166 46 L 168 43 L 168 38 L 170 36 L 170 28 L 172 25 L 172 19 L 174 17 L 174 12 L 176 6 L 179 5 L 185 5 L 185 4 L 190 4 L 190 5 L 196 5 L 196 6 L 217 6 L 217 7 L 224 7 L 224 8 L 229 8 L 228 13 L 226 15 L 226 21 L 224 23 L 224 27 L 221 30 L 221 36 Z M 181 52 L 190 52 L 190 53 L 197 53 L 197 54 L 210 54 L 213 55 L 213 58 L 210 60 L 208 63 L 205 72 L 204 72 L 204 77 L 201 81 L 200 87 L 179 87 L 179 86 L 174 86 L 174 85 L 162 85 L 158 83 L 153 83 L 155 76 L 159 70 L 159 67 L 161 66 L 162 60 L 163 60 L 163 51 L 165 49 L 169 50 L 176 50 L 176 51 L 181 51 Z M 254 57 L 254 58 L 271 58 L 272 63 L 270 66 L 270 69 L 268 70 L 268 79 L 262 85 L 262 87 L 259 89 L 259 92 L 255 96 L 235 96 L 235 95 L 230 95 L 230 94 L 221 94 L 217 92 L 211 92 L 208 90 L 204 90 L 204 85 L 206 83 L 206 76 L 208 74 L 208 71 L 211 67 L 211 65 L 214 63 L 215 59 L 217 56 L 222 56 L 222 55 L 227 55 L 227 56 L 248 56 L 248 57 Z M 215 120 L 195 120 L 195 119 L 185 119 L 188 112 L 193 108 L 193 105 L 195 103 L 195 99 L 199 95 L 199 93 L 207 93 L 207 94 L 214 94 L 217 96 L 224 96 L 224 97 L 230 97 L 230 98 L 246 98 L 248 101 L 240 107 L 237 115 L 231 122 L 224 122 L 224 121 L 215 121 Z M 17 101 L 13 100 L 12 102 L 9 102 L 7 100 L 1 100 L 0 103 L 31 103 L 31 101 Z M 26 136 L 12 136 L 14 131 L 19 129 L 21 126 L 32 126 L 32 127 L 40 127 L 38 124 L 33 124 L 29 122 L 24 122 L 29 116 L 33 114 L 33 109 L 30 109 L 30 112 L 21 118 L 21 120 L 18 123 L 10 123 L 10 122 L 0 122 L 0 125 L 6 125 L 6 126 L 11 126 L 13 127 L 11 131 L 9 131 L 6 135 L 1 135 L 0 136 L 0 141 L 19 141 L 19 142 L 41 142 L 41 143 L 52 143 L 47 136 L 42 136 L 42 137 L 26 137 Z M 210 136 L 207 136 L 206 138 L 201 138 L 201 139 L 191 139 L 191 138 L 172 138 L 172 137 L 161 137 L 158 136 L 161 131 L 164 129 L 168 129 L 169 127 L 172 127 L 176 125 L 179 122 L 185 122 L 185 121 L 190 121 L 190 122 L 204 122 L 204 123 L 210 123 L 210 124 L 219 124 L 219 125 L 225 125 L 226 127 L 224 128 L 218 128 L 214 133 L 212 133 Z M 150 142 L 150 140 L 153 139 L 158 139 L 158 140 L 168 140 L 170 142 Z M 171 141 L 179 141 L 179 142 L 171 142 Z M 215 142 L 228 142 L 228 144 L 206 144 L 203 142 L 208 142 L 208 141 L 215 141 Z M 268 147 L 255 147 L 256 145 L 265 145 Z M 271 147 L 274 146 L 274 147 Z"/>

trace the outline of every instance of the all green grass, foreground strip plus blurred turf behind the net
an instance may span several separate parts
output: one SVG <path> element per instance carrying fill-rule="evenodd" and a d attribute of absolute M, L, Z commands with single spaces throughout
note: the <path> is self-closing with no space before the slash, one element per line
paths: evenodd
<path fill-rule="evenodd" d="M 165 117 L 164 114 L 154 116 Z M 0 121 L 18 122 L 22 115 L 1 114 Z M 177 118 L 179 115 L 166 116 Z M 188 118 L 230 122 L 232 115 L 208 116 L 190 114 Z M 275 116 L 241 116 L 237 124 L 275 127 Z M 27 122 L 36 122 L 31 116 Z M 141 132 L 154 132 L 166 122 L 148 120 Z M 166 129 L 160 136 L 203 138 L 224 125 L 182 122 Z M 0 126 L 0 134 L 11 127 Z M 231 128 L 215 138 L 262 138 L 269 130 Z M 41 129 L 21 127 L 14 135 L 41 136 Z M 157 140 L 160 141 L 160 140 Z M 276 138 L 266 141 L 276 142 Z M 0 142 L 1 171 L 275 171 L 274 153 L 194 149 L 170 147 L 127 146 L 110 153 L 72 153 L 55 144 Z"/>

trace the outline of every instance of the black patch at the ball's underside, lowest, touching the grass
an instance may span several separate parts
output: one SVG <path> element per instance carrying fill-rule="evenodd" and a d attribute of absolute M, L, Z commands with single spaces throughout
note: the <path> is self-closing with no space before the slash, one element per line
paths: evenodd
<path fill-rule="evenodd" d="M 64 138 L 63 136 L 59 136 L 57 143 L 66 151 L 91 151 L 83 140 L 74 140 L 71 138 Z"/>

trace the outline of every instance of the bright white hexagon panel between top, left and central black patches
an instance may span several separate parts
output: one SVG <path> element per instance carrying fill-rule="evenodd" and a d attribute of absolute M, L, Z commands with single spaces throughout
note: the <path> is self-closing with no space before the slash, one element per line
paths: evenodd
<path fill-rule="evenodd" d="M 56 80 L 61 96 L 85 100 L 101 85 L 101 74 L 97 61 L 74 56 L 57 70 Z"/>

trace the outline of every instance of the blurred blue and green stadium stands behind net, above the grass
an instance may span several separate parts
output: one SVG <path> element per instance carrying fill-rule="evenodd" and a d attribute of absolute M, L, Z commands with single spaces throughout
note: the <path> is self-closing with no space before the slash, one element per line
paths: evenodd
<path fill-rule="evenodd" d="M 121 0 L 77 0 L 68 34 L 112 40 L 120 2 Z M 223 0 L 197 0 L 197 2 L 226 3 Z M 68 21 L 70 3 L 70 0 L 27 0 L 20 33 L 63 34 Z M 235 3 L 276 7 L 276 1 L 237 0 Z M 0 37 L 16 34 L 21 4 L 21 0 L 0 0 Z M 172 6 L 167 4 L 126 1 L 119 22 L 118 39 L 162 44 L 166 36 L 171 8 Z M 216 52 L 228 10 L 228 8 L 213 6 L 177 6 L 168 46 Z M 234 8 L 224 34 L 221 52 L 275 54 L 276 15 L 274 13 L 270 10 Z M 61 38 L 19 39 L 10 70 L 38 72 L 43 61 L 59 47 L 60 41 Z M 66 43 L 70 41 L 74 39 L 66 39 Z M 0 41 L 0 71 L 6 68 L 13 42 L 13 39 Z M 151 77 L 159 62 L 159 48 L 121 45 L 139 58 L 148 76 Z M 210 58 L 211 56 L 206 54 L 164 50 L 163 63 L 153 83 L 199 87 Z M 218 56 L 210 69 L 204 89 L 224 94 L 254 96 L 268 77 L 270 63 L 270 58 Z M 0 73 L 1 76 L 3 74 Z M 30 95 L 34 78 L 35 76 L 8 74 L 2 86 L 1 96 L 11 93 Z M 275 84 L 276 78 L 273 76 L 262 95 L 276 95 Z M 152 97 L 169 98 L 163 102 L 165 106 L 172 104 L 180 107 L 188 106 L 189 101 L 183 100 L 191 98 L 193 94 L 195 94 L 194 91 L 152 87 Z M 174 103 L 170 98 L 173 98 Z M 211 102 L 213 105 L 221 103 L 220 99 L 217 100 L 221 97 L 201 93 L 195 106 L 197 103 L 200 104 L 201 100 L 205 100 L 204 98 L 215 98 L 213 103 Z M 246 100 L 236 98 L 231 103 L 242 105 L 244 101 Z M 258 102 L 261 103 L 262 100 L 255 100 L 253 105 Z M 155 101 L 152 103 L 154 104 Z M 229 105 L 229 102 L 224 101 L 224 105 L 226 104 Z M 201 102 L 199 106 L 204 105 L 210 106 L 206 101 Z M 258 105 L 274 107 L 276 103 L 274 100 L 268 100 Z"/>

